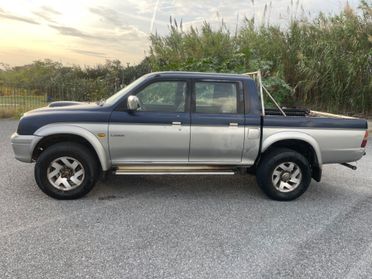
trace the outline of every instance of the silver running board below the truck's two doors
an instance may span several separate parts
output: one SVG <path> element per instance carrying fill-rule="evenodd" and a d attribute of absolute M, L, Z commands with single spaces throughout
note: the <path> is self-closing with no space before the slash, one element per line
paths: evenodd
<path fill-rule="evenodd" d="M 115 170 L 116 175 L 234 175 L 226 166 L 125 165 Z"/>

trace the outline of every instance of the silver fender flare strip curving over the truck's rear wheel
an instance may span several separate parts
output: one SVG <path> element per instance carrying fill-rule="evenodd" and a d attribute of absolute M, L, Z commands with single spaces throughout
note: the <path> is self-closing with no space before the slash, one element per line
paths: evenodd
<path fill-rule="evenodd" d="M 270 128 L 264 128 L 270 129 Z M 303 133 L 303 132 L 295 132 L 295 131 L 283 131 L 283 132 L 277 132 L 273 133 L 271 135 L 263 135 L 262 140 L 262 152 L 264 152 L 267 148 L 269 148 L 273 143 L 281 141 L 281 140 L 302 140 L 304 142 L 307 142 L 310 144 L 318 158 L 318 165 L 319 167 L 322 167 L 322 154 L 320 152 L 320 147 L 317 141 L 310 136 L 309 134 Z"/>

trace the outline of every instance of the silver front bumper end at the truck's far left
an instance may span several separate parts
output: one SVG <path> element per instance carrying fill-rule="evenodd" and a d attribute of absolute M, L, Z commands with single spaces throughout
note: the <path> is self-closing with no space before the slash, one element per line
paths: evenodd
<path fill-rule="evenodd" d="M 11 144 L 15 158 L 21 162 L 31 163 L 32 152 L 41 137 L 34 135 L 18 135 L 14 133 L 11 138 Z"/>

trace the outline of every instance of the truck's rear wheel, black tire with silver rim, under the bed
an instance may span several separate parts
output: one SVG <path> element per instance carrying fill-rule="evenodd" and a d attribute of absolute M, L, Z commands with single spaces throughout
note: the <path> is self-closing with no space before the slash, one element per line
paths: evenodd
<path fill-rule="evenodd" d="M 309 187 L 311 168 L 308 160 L 289 148 L 264 154 L 257 168 L 257 183 L 271 199 L 291 201 Z"/>

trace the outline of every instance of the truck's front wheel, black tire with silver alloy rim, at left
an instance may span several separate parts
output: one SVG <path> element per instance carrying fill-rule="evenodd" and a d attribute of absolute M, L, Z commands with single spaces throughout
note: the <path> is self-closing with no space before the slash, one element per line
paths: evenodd
<path fill-rule="evenodd" d="M 36 183 L 45 194 L 55 199 L 81 198 L 92 190 L 97 181 L 99 168 L 96 160 L 82 144 L 54 144 L 36 161 Z"/>

